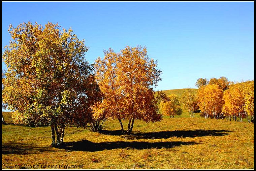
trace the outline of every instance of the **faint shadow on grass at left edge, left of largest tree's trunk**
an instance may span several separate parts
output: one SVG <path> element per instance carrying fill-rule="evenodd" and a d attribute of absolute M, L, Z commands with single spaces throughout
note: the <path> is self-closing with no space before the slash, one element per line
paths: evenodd
<path fill-rule="evenodd" d="M 42 153 L 44 151 L 52 152 L 54 151 L 51 146 L 36 146 L 35 144 L 17 143 L 17 142 L 7 142 L 2 143 L 2 154 L 18 154 L 27 155 L 34 153 Z"/>

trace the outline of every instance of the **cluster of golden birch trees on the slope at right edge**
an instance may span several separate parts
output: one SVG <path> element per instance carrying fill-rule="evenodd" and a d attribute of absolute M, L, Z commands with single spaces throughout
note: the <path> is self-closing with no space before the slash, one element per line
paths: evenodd
<path fill-rule="evenodd" d="M 225 77 L 197 79 L 199 109 L 205 118 L 229 118 L 254 123 L 254 80 L 230 82 Z"/>

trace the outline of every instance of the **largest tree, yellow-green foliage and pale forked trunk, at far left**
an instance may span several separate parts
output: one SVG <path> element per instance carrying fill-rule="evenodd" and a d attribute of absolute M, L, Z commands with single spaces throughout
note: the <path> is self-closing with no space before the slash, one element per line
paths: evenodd
<path fill-rule="evenodd" d="M 2 56 L 7 66 L 2 98 L 14 111 L 14 123 L 51 126 L 53 146 L 63 143 L 65 127 L 85 126 L 100 99 L 84 40 L 59 28 L 10 25 L 12 40 Z"/>

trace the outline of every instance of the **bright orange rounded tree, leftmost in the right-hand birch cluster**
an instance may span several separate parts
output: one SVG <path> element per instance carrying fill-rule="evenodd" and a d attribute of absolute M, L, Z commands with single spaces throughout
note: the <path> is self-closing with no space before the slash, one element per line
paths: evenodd
<path fill-rule="evenodd" d="M 198 89 L 199 107 L 205 114 L 205 118 L 215 119 L 223 117 L 223 89 L 217 84 L 208 84 Z"/>

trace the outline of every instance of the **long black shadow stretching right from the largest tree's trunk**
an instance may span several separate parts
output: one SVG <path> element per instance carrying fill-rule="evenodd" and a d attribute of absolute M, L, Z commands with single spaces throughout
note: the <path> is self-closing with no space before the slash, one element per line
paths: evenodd
<path fill-rule="evenodd" d="M 166 142 L 139 142 L 139 141 L 116 141 L 116 142 L 91 142 L 88 140 L 82 140 L 78 142 L 67 142 L 62 147 L 68 151 L 102 151 L 111 150 L 117 148 L 126 149 L 147 149 L 147 148 L 172 148 L 181 145 L 193 145 L 198 144 L 194 141 L 183 142 L 183 141 L 166 141 Z"/>

